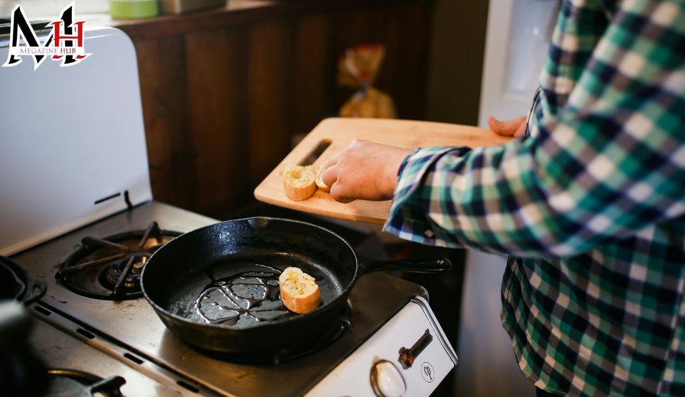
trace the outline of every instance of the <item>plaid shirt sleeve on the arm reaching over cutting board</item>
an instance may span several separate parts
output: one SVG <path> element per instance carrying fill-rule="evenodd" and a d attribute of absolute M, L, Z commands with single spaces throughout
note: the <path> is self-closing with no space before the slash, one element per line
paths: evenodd
<path fill-rule="evenodd" d="M 555 35 L 550 53 L 569 52 L 568 36 Z M 569 92 L 559 107 L 540 93 L 525 139 L 410 153 L 384 230 L 425 244 L 566 257 L 683 216 L 682 3 L 621 1 Z"/>

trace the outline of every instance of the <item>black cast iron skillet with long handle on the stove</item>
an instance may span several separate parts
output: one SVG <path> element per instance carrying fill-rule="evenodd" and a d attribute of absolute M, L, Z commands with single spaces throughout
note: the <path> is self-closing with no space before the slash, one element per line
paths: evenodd
<path fill-rule="evenodd" d="M 194 305 L 206 287 L 261 269 L 246 263 L 271 266 L 276 272 L 288 266 L 301 268 L 316 278 L 321 305 L 309 313 L 248 325 L 208 324 L 199 318 Z M 325 330 L 363 274 L 441 272 L 449 266 L 443 258 L 358 262 L 351 246 L 323 227 L 279 218 L 245 218 L 202 227 L 166 243 L 147 261 L 140 283 L 162 322 L 184 342 L 227 353 L 255 353 L 292 346 Z"/>

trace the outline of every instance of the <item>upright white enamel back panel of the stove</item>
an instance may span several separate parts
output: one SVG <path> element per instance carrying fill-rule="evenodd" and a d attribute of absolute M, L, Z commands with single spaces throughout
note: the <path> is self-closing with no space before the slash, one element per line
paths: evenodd
<path fill-rule="evenodd" d="M 126 190 L 134 205 L 152 197 L 133 44 L 101 28 L 85 47 L 75 66 L 0 68 L 0 255 L 125 209 Z"/>

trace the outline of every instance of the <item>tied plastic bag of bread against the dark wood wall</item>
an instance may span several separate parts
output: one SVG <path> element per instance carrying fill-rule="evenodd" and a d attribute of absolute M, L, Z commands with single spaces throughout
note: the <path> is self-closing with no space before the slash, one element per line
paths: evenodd
<path fill-rule="evenodd" d="M 348 49 L 338 62 L 338 86 L 357 89 L 340 108 L 341 117 L 396 118 L 395 103 L 390 95 L 373 88 L 385 55 L 379 44 Z"/>

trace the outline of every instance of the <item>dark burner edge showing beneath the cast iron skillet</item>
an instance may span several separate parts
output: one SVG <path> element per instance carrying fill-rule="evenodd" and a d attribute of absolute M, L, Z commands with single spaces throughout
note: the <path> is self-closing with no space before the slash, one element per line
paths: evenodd
<path fill-rule="evenodd" d="M 318 335 L 311 337 L 305 342 L 288 346 L 286 348 L 280 348 L 278 350 L 268 350 L 256 353 L 223 353 L 216 350 L 198 348 L 197 346 L 191 347 L 195 348 L 195 350 L 198 350 L 203 355 L 207 355 L 221 361 L 242 364 L 270 364 L 276 366 L 279 363 L 284 363 L 286 361 L 292 361 L 299 359 L 300 357 L 311 355 L 336 342 L 336 340 L 343 336 L 345 330 L 352 326 L 351 314 L 352 309 L 348 301 L 343 311 L 340 311 L 340 314 L 338 315 L 338 318 L 334 324 L 327 327 L 327 329 L 323 330 Z"/>

